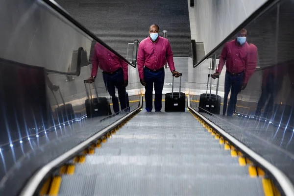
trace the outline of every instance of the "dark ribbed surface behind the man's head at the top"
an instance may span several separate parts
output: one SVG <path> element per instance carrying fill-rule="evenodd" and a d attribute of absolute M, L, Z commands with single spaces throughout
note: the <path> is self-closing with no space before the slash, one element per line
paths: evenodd
<path fill-rule="evenodd" d="M 148 36 L 149 25 L 168 31 L 174 56 L 191 57 L 187 0 L 56 0 L 74 19 L 126 57 L 128 43 Z M 163 36 L 160 33 L 160 36 Z"/>

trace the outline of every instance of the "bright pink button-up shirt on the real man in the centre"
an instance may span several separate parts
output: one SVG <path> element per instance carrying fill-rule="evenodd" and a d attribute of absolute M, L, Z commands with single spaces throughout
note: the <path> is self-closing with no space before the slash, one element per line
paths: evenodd
<path fill-rule="evenodd" d="M 171 71 L 174 71 L 173 54 L 169 40 L 158 36 L 156 43 L 149 37 L 144 39 L 138 49 L 137 65 L 140 79 L 144 78 L 144 66 L 151 70 L 159 70 L 168 61 Z"/>

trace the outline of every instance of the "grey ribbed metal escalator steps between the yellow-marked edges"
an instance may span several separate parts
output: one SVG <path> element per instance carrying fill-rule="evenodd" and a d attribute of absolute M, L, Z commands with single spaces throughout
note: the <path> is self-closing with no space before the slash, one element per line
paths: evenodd
<path fill-rule="evenodd" d="M 260 178 L 188 112 L 141 112 L 63 176 L 60 196 L 263 195 Z"/>

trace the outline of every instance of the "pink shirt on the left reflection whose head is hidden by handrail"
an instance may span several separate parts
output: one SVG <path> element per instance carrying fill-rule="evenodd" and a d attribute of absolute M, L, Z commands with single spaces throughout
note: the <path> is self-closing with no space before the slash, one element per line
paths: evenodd
<path fill-rule="evenodd" d="M 118 69 L 123 68 L 123 79 L 128 79 L 128 64 L 101 44 L 96 43 L 92 57 L 91 75 L 97 75 L 98 66 L 100 66 L 102 71 L 108 73 L 113 73 Z"/>

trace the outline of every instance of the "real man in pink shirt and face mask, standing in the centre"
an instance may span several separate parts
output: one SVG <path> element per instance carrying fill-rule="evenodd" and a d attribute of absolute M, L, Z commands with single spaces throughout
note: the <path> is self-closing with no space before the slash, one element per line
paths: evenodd
<path fill-rule="evenodd" d="M 155 111 L 160 112 L 161 110 L 162 90 L 165 76 L 164 66 L 167 61 L 172 74 L 174 74 L 175 77 L 180 76 L 174 68 L 170 42 L 167 39 L 158 36 L 158 33 L 158 25 L 151 25 L 149 27 L 150 36 L 140 43 L 137 55 L 140 82 L 145 86 L 147 112 L 152 111 L 153 84 L 155 90 Z"/>

